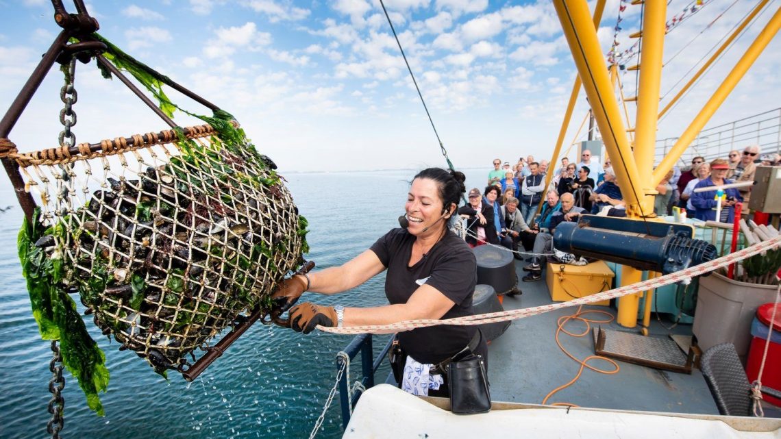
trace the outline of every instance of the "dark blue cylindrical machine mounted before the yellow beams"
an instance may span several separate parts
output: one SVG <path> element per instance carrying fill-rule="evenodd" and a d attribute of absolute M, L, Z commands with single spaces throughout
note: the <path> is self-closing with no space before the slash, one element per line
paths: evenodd
<path fill-rule="evenodd" d="M 560 223 L 553 241 L 562 252 L 669 274 L 716 258 L 715 246 L 693 234 L 686 224 L 584 215 Z"/>

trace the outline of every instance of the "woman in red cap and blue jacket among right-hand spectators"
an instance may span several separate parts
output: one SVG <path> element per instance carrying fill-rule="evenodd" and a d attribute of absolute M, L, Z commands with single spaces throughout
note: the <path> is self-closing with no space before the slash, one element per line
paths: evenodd
<path fill-rule="evenodd" d="M 694 189 L 734 183 L 734 180 L 726 178 L 728 170 L 729 163 L 725 159 L 715 159 L 711 162 L 711 176 L 705 177 L 704 180 L 695 184 Z M 691 205 L 694 206 L 694 218 L 702 219 L 703 221 L 716 220 L 721 223 L 732 223 L 735 219 L 734 206 L 737 202 L 743 201 L 740 191 L 734 187 L 724 190 L 724 195 L 722 195 L 722 212 L 719 218 L 716 218 L 716 205 L 718 205 L 717 195 L 715 190 L 704 192 L 693 191 L 691 195 Z"/>

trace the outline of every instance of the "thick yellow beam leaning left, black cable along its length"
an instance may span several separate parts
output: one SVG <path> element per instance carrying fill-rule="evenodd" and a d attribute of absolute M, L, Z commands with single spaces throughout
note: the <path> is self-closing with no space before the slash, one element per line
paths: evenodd
<path fill-rule="evenodd" d="M 626 127 L 610 85 L 608 66 L 604 62 L 594 23 L 590 20 L 588 5 L 585 0 L 555 0 L 553 4 L 618 177 L 626 212 L 629 216 L 642 216 L 645 210 L 640 207 L 644 198 L 640 174 L 629 148 Z"/>

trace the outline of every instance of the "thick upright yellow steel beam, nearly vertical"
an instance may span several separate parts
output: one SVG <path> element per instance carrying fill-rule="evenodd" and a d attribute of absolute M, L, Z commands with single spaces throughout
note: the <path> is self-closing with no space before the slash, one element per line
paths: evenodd
<path fill-rule="evenodd" d="M 640 50 L 640 80 L 637 86 L 634 156 L 640 182 L 651 180 L 656 148 L 659 89 L 662 83 L 662 54 L 665 44 L 667 2 L 647 2 L 643 11 L 643 48 Z M 654 209 L 654 197 L 643 198 L 644 211 Z"/>

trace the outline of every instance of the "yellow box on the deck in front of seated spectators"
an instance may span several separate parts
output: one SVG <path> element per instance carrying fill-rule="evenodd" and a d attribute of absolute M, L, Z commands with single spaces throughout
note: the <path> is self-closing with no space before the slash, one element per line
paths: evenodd
<path fill-rule="evenodd" d="M 555 264 L 548 262 L 546 273 L 547 291 L 555 302 L 565 302 L 608 291 L 615 274 L 604 261 L 591 262 L 585 266 Z M 609 300 L 591 305 L 610 305 Z"/>

